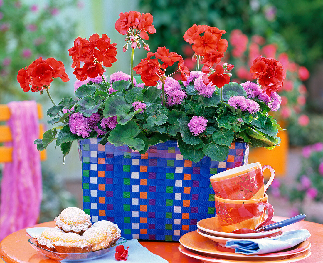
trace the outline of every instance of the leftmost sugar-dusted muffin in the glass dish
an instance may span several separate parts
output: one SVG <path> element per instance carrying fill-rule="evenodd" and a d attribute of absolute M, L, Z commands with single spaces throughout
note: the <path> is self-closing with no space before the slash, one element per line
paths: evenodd
<path fill-rule="evenodd" d="M 35 236 L 34 240 L 38 247 L 56 251 L 53 243 L 59 240 L 62 234 L 65 234 L 65 232 L 58 227 L 49 227 L 46 228 L 40 235 Z"/>

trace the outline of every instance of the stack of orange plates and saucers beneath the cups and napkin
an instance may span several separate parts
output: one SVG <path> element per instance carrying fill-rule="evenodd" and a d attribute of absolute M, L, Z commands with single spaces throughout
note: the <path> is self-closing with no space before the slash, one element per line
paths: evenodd
<path fill-rule="evenodd" d="M 273 221 L 269 224 L 275 223 Z M 295 247 L 282 251 L 260 254 L 244 255 L 234 253 L 234 249 L 225 247 L 227 240 L 248 238 L 275 238 L 283 231 L 277 228 L 252 234 L 233 234 L 222 231 L 217 217 L 207 218 L 197 223 L 198 230 L 189 232 L 180 238 L 178 249 L 185 255 L 207 263 L 270 263 L 270 262 L 295 262 L 311 255 L 311 244 L 308 240 Z"/>

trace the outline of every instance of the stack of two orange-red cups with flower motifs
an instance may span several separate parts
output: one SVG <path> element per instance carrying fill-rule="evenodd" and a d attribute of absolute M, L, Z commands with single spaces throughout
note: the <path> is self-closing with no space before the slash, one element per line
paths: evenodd
<path fill-rule="evenodd" d="M 265 169 L 271 172 L 266 184 Z M 267 202 L 266 190 L 274 178 L 275 170 L 260 163 L 235 167 L 210 177 L 215 192 L 215 211 L 224 232 L 241 228 L 256 230 L 272 219 L 274 209 Z"/>

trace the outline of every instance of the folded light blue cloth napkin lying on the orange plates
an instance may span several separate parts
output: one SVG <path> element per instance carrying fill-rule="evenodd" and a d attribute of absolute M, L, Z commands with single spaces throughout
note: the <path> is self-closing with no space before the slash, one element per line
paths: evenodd
<path fill-rule="evenodd" d="M 310 236 L 306 229 L 292 230 L 272 238 L 228 240 L 225 247 L 234 248 L 235 253 L 245 255 L 265 254 L 294 247 Z"/>

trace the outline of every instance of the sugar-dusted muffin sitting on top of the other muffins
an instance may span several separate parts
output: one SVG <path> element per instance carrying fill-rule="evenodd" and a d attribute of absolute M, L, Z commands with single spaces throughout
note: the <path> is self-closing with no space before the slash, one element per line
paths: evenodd
<path fill-rule="evenodd" d="M 55 219 L 56 226 L 65 232 L 82 235 L 92 225 L 91 217 L 77 207 L 65 208 Z"/>

